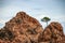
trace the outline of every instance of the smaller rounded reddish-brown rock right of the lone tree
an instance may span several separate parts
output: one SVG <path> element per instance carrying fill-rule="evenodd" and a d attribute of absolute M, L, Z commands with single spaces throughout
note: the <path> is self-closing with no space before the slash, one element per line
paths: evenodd
<path fill-rule="evenodd" d="M 58 43 L 63 37 L 63 27 L 56 22 L 51 23 L 43 31 L 43 41 L 50 41 L 50 43 Z"/>

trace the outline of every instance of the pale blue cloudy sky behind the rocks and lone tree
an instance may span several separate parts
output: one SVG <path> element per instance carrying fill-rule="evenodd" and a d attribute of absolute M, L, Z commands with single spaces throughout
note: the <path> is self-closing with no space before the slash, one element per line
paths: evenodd
<path fill-rule="evenodd" d="M 41 18 L 48 16 L 50 23 L 61 23 L 65 32 L 65 0 L 0 0 L 0 28 L 20 11 L 38 19 L 43 28 L 47 25 Z"/>

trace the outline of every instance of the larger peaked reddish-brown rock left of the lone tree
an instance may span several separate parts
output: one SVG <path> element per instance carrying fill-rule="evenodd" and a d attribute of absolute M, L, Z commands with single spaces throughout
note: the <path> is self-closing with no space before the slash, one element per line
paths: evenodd
<path fill-rule="evenodd" d="M 18 12 L 15 17 L 5 23 L 3 30 L 0 31 L 0 42 L 38 43 L 38 37 L 41 32 L 43 32 L 42 26 L 36 18 L 30 17 L 25 12 Z"/>

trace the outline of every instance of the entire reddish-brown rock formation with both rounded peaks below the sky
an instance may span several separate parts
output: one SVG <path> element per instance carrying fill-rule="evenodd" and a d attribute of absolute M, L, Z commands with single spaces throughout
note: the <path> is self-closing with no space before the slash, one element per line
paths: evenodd
<path fill-rule="evenodd" d="M 53 22 L 43 30 L 36 18 L 18 12 L 0 29 L 0 43 L 65 43 L 65 37 L 61 24 Z"/>

